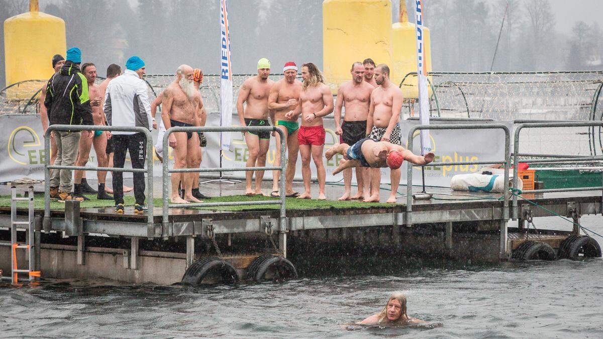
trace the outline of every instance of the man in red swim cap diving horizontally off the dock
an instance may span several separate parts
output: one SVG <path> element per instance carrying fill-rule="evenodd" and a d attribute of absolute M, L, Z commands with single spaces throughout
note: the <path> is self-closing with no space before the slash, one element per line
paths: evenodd
<path fill-rule="evenodd" d="M 343 155 L 344 160 L 339 162 L 339 166 L 333 171 L 333 175 L 348 168 L 358 168 L 358 166 L 389 167 L 392 170 L 397 170 L 402 166 L 404 160 L 415 165 L 425 165 L 434 161 L 434 153 L 429 152 L 425 156 L 417 156 L 400 145 L 394 145 L 387 141 L 374 141 L 370 138 L 361 139 L 353 145 L 333 145 L 324 153 L 324 156 L 327 160 L 330 160 L 337 153 Z"/>

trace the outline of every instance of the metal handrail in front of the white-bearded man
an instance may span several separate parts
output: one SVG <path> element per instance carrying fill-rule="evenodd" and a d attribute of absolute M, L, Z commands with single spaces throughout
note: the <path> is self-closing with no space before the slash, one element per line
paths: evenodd
<path fill-rule="evenodd" d="M 163 226 L 168 229 L 169 208 L 192 208 L 192 207 L 217 207 L 217 206 L 241 206 L 241 205 L 262 205 L 262 204 L 280 204 L 279 230 L 286 230 L 286 212 L 285 212 L 285 133 L 276 126 L 245 126 L 245 127 L 170 127 L 163 134 L 163 149 L 168 149 L 168 138 L 171 133 L 176 132 L 273 132 L 280 135 L 280 167 L 262 166 L 262 167 L 210 167 L 210 168 L 177 168 L 169 169 L 168 161 L 163 161 Z M 170 204 L 169 203 L 169 173 L 195 173 L 195 172 L 234 172 L 234 171 L 280 171 L 280 199 L 279 200 L 259 200 L 259 201 L 230 201 L 224 203 L 188 203 L 188 204 Z"/>

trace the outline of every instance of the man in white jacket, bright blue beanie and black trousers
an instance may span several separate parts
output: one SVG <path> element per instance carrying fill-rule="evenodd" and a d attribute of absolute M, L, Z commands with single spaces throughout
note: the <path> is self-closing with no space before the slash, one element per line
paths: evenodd
<path fill-rule="evenodd" d="M 139 57 L 130 57 L 125 63 L 123 75 L 113 79 L 107 86 L 104 113 L 110 126 L 145 127 L 151 130 L 153 117 L 148 101 L 147 84 L 142 77 L 146 74 L 145 63 Z M 113 131 L 113 165 L 123 168 L 125 154 L 130 151 L 132 168 L 144 168 L 147 157 L 147 138 L 144 133 Z M 115 211 L 124 212 L 124 176 L 113 172 L 113 198 Z M 134 173 L 134 213 L 145 211 L 145 174 Z"/>

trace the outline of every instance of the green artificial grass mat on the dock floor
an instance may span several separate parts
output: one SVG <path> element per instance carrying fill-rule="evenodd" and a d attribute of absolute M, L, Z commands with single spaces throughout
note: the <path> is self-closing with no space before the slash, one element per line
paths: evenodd
<path fill-rule="evenodd" d="M 90 198 L 89 201 L 83 201 L 80 203 L 81 208 L 101 208 L 101 207 L 113 207 L 115 203 L 113 200 L 96 200 L 95 194 L 87 194 L 86 197 Z M 208 203 L 217 202 L 231 202 L 231 201 L 267 201 L 275 200 L 272 197 L 264 197 L 261 195 L 255 195 L 253 197 L 247 197 L 247 195 L 228 195 L 226 197 L 213 197 L 210 200 L 206 200 Z M 131 195 L 124 196 L 125 206 L 134 206 L 134 197 Z M 163 201 L 160 198 L 154 198 L 153 203 L 155 207 L 160 207 Z M 37 195 L 34 198 L 34 206 L 36 209 L 44 208 L 44 196 Z M 351 208 L 390 208 L 394 204 L 386 203 L 363 203 L 361 201 L 338 201 L 338 200 L 316 200 L 316 199 L 298 199 L 298 198 L 286 198 L 286 208 L 289 210 L 294 209 L 351 209 Z M 10 207 L 10 196 L 0 196 L 0 207 Z M 17 207 L 27 208 L 27 201 L 18 201 Z M 51 201 L 51 209 L 65 209 L 64 203 L 58 201 Z M 212 211 L 254 211 L 254 210 L 265 210 L 265 209 L 279 209 L 280 206 L 275 205 L 248 205 L 248 206 L 223 206 L 223 207 L 207 207 L 200 209 L 210 209 Z"/>

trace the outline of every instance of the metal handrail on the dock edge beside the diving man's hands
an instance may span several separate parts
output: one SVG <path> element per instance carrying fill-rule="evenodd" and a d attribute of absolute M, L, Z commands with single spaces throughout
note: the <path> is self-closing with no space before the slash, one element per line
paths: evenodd
<path fill-rule="evenodd" d="M 505 163 L 504 175 L 504 209 L 502 216 L 504 220 L 509 218 L 509 168 L 511 167 L 510 149 L 511 133 L 505 124 L 458 124 L 458 125 L 415 125 L 408 131 L 408 149 L 412 150 L 412 140 L 417 130 L 481 130 L 499 129 L 505 132 L 505 159 L 491 161 L 462 161 L 462 162 L 431 162 L 426 165 L 414 165 L 408 162 L 408 174 L 406 175 L 406 226 L 412 225 L 412 167 L 413 166 L 444 166 L 444 165 L 485 165 L 494 163 Z"/>

